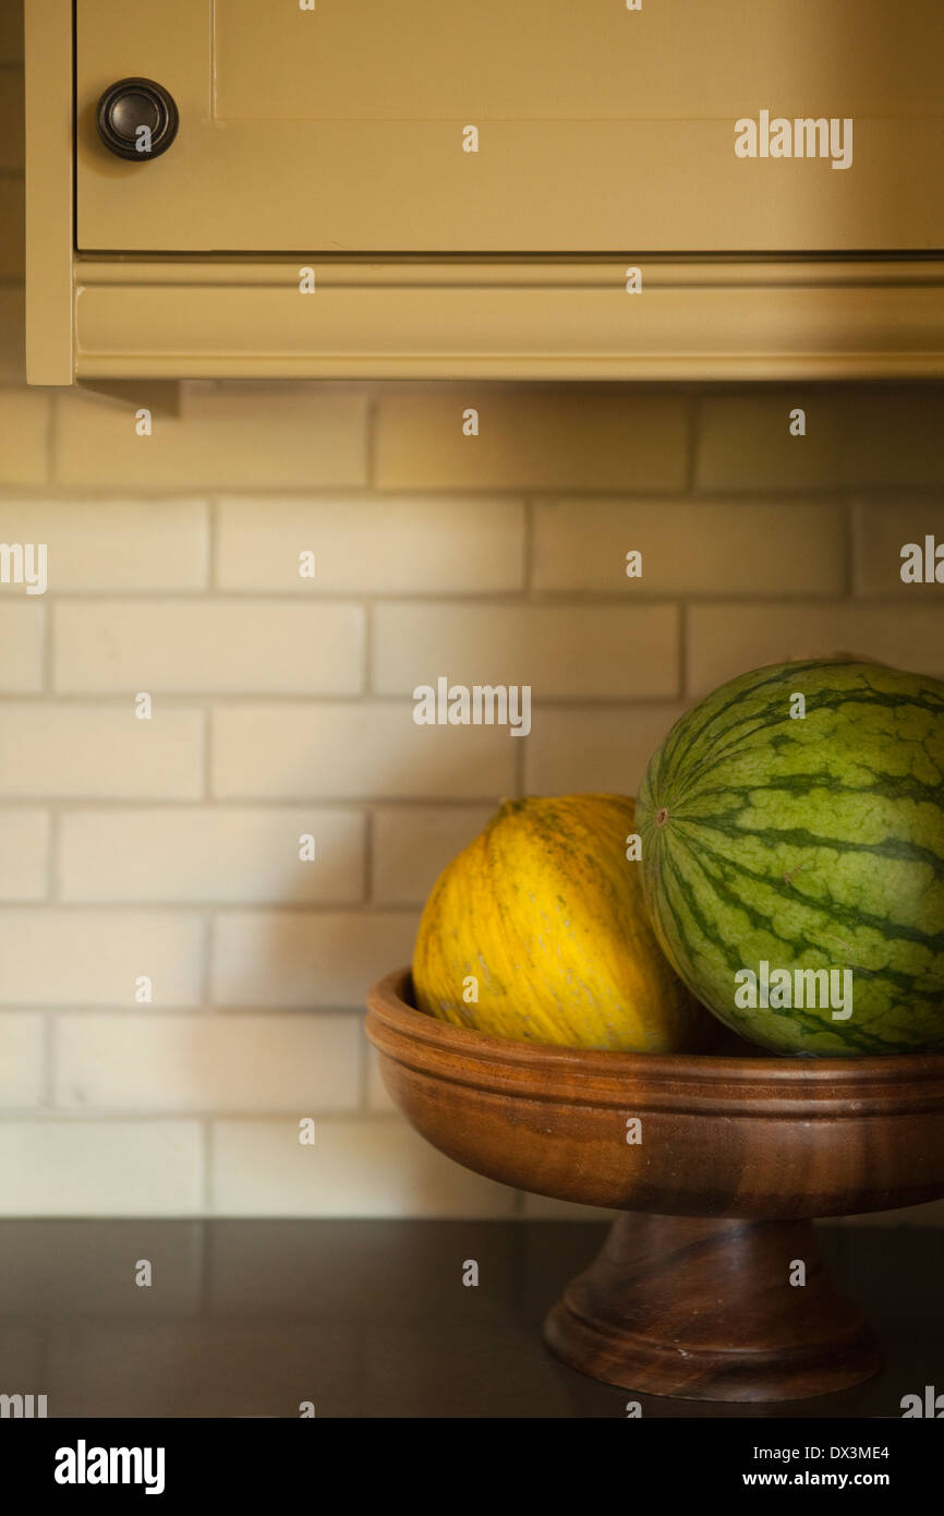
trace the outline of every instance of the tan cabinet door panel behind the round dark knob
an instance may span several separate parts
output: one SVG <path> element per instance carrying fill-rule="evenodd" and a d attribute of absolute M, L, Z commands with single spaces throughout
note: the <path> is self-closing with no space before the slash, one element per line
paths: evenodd
<path fill-rule="evenodd" d="M 944 246 L 939 0 L 77 0 L 83 250 L 606 253 Z M 94 111 L 144 74 L 153 162 Z M 853 118 L 852 167 L 735 121 Z M 479 152 L 462 150 L 479 129 Z"/>

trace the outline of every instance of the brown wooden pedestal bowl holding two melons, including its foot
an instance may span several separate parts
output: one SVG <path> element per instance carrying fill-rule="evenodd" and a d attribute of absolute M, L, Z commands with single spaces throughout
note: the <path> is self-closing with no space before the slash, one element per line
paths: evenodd
<path fill-rule="evenodd" d="M 726 1401 L 818 1395 L 879 1369 L 809 1219 L 944 1196 L 942 1054 L 589 1052 L 455 1028 L 411 999 L 409 970 L 382 979 L 367 1034 L 417 1131 L 515 1189 L 642 1213 L 614 1223 L 552 1310 L 561 1358 L 627 1389 Z"/>

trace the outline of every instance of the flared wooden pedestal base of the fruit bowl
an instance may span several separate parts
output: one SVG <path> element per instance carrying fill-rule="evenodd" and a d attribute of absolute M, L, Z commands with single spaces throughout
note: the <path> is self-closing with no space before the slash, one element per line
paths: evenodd
<path fill-rule="evenodd" d="M 882 1367 L 803 1220 L 623 1214 L 544 1337 L 595 1380 L 692 1401 L 805 1399 Z"/>

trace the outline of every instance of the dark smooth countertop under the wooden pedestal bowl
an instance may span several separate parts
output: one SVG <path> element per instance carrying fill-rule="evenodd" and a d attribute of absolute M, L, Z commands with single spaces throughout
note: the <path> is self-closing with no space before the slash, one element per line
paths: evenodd
<path fill-rule="evenodd" d="M 706 1405 L 597 1384 L 541 1320 L 606 1228 L 467 1220 L 0 1222 L 0 1393 L 56 1416 L 900 1416 L 944 1387 L 944 1231 L 820 1228 L 886 1367 L 841 1395 Z M 152 1266 L 152 1284 L 135 1284 Z M 479 1284 L 467 1287 L 467 1260 Z"/>

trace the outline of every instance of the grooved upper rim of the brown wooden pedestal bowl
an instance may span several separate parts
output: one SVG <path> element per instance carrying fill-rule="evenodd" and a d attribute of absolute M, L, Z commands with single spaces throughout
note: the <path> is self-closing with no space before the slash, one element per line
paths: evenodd
<path fill-rule="evenodd" d="M 852 1085 L 846 1096 L 855 1099 L 858 1090 L 876 1085 L 891 1085 L 902 1095 L 905 1087 L 938 1082 L 944 1095 L 944 1052 L 909 1054 L 862 1054 L 858 1057 L 809 1057 L 791 1058 L 779 1054 L 739 1057 L 732 1054 L 652 1054 L 608 1052 L 595 1048 L 556 1048 L 547 1043 L 514 1041 L 506 1037 L 491 1037 L 470 1028 L 441 1022 L 411 1002 L 412 972 L 409 966 L 394 969 L 371 985 L 367 1005 L 367 1035 L 380 1052 L 386 1051 L 383 1034 L 386 1028 L 402 1041 L 406 1038 L 423 1049 L 424 1055 L 453 1055 L 464 1063 L 505 1066 L 509 1073 L 544 1075 L 553 1079 L 579 1073 L 589 1082 L 624 1082 L 632 1078 L 638 1084 L 671 1085 L 694 1084 L 705 1088 L 711 1084 L 753 1085 L 758 1093 L 779 1087 L 780 1095 L 796 1092 L 800 1085 L 821 1088 L 823 1095 L 838 1095 L 836 1085 Z M 379 1023 L 373 1025 L 373 1023 Z M 747 1092 L 744 1092 L 747 1093 Z M 891 1090 L 888 1092 L 891 1093 Z"/>

